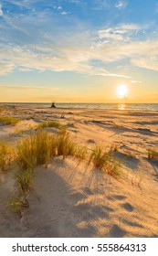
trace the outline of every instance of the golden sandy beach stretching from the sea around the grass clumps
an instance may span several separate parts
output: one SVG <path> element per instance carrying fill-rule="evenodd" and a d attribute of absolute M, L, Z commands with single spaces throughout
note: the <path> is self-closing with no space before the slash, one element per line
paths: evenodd
<path fill-rule="evenodd" d="M 91 150 L 116 148 L 121 176 L 115 178 L 76 157 L 53 157 L 38 165 L 29 208 L 19 218 L 6 207 L 16 193 L 14 167 L 0 172 L 0 237 L 158 237 L 158 112 L 7 106 L 0 116 L 0 140 L 16 144 L 39 123 L 57 121 L 70 138 Z M 43 128 L 57 134 L 58 128 Z M 154 157 L 156 158 L 156 157 Z"/>

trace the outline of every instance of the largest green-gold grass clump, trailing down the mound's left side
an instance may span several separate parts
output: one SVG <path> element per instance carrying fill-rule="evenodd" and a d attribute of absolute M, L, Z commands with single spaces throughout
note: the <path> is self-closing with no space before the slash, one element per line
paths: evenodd
<path fill-rule="evenodd" d="M 54 153 L 54 137 L 38 130 L 17 144 L 16 151 L 16 187 L 18 197 L 10 204 L 12 211 L 19 213 L 24 208 L 27 193 L 32 188 L 32 175 L 37 165 L 48 164 Z M 23 198 L 23 200 L 21 200 Z"/>

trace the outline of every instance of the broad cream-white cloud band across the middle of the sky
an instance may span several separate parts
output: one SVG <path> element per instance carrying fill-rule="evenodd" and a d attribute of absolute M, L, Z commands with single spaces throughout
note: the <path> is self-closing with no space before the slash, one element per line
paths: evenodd
<path fill-rule="evenodd" d="M 75 71 L 88 75 L 122 77 L 130 79 L 129 75 L 114 73 L 108 64 L 122 59 L 128 59 L 133 66 L 158 70 L 158 40 L 125 40 L 131 31 L 138 29 L 137 25 L 121 25 L 99 31 L 99 36 L 78 33 L 74 31 L 51 39 L 47 35 L 47 44 L 29 44 L 21 47 L 0 46 L 0 74 L 5 75 L 13 69 L 28 71 Z M 128 34 L 129 33 L 129 34 Z M 96 34 L 97 35 L 97 34 Z M 46 35 L 43 35 L 45 37 Z M 62 38 L 62 39 L 61 39 Z M 79 38 L 80 41 L 79 41 Z M 105 44 L 105 40 L 106 41 Z M 55 41 L 54 41 L 55 40 Z M 112 40 L 112 42 L 111 42 Z M 56 42 L 56 43 L 54 43 Z M 64 42 L 64 44 L 62 44 Z M 96 67 L 90 60 L 98 59 L 100 66 Z M 116 64 L 117 65 L 117 64 Z"/>

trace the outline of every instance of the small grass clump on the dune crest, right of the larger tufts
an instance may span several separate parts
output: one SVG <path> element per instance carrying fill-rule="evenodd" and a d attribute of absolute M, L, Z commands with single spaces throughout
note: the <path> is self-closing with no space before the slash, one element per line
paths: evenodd
<path fill-rule="evenodd" d="M 111 150 L 107 151 L 105 148 L 95 146 L 90 154 L 90 162 L 111 176 L 120 176 L 119 166 L 121 164 L 115 159 Z"/>

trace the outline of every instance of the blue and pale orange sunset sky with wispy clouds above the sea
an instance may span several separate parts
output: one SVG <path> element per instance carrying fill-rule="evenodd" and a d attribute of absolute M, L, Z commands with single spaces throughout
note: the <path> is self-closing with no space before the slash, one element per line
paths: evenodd
<path fill-rule="evenodd" d="M 158 103 L 158 0 L 0 0 L 0 102 Z"/>

